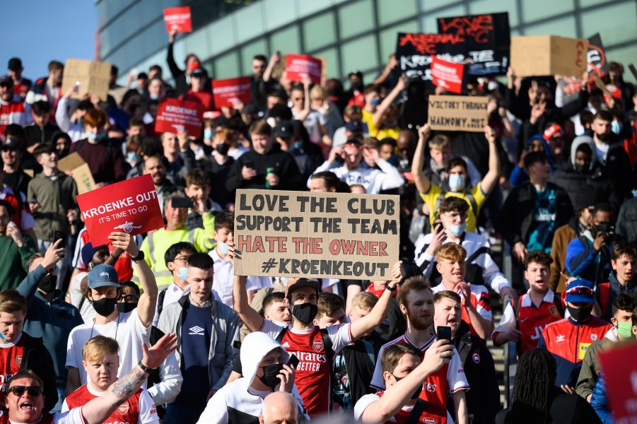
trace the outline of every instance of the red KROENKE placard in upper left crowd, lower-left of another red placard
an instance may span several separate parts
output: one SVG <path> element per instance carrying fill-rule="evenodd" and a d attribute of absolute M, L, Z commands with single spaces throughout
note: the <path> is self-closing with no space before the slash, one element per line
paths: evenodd
<path fill-rule="evenodd" d="M 201 136 L 204 106 L 200 103 L 165 98 L 159 102 L 155 132 L 178 133 L 186 131 L 189 136 Z"/>

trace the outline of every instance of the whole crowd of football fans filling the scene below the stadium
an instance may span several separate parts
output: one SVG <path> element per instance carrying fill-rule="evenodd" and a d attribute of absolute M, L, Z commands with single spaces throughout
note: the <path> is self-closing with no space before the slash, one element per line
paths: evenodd
<path fill-rule="evenodd" d="M 215 107 L 174 42 L 170 73 L 112 66 L 106 100 L 63 92 L 59 61 L 0 77 L 0 423 L 614 422 L 597 355 L 637 334 L 621 63 L 568 102 L 562 76 L 469 76 L 488 124 L 443 132 L 445 90 L 395 57 L 312 84 L 257 55 L 252 102 Z M 165 98 L 204 107 L 201 136 L 156 133 Z M 94 245 L 71 153 L 95 188 L 151 175 L 165 227 Z M 399 195 L 391 280 L 235 276 L 237 189 Z M 505 409 L 490 343 L 519 357 Z"/>

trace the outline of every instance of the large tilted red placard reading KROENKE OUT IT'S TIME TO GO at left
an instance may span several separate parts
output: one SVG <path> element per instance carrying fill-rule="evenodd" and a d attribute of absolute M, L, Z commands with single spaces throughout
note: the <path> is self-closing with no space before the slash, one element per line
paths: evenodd
<path fill-rule="evenodd" d="M 90 241 L 106 245 L 113 231 L 141 234 L 163 228 L 151 175 L 140 175 L 77 196 Z"/>

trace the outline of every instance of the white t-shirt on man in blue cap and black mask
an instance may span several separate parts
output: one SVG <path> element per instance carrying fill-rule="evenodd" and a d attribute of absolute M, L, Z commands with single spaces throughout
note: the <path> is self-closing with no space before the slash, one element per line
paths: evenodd
<path fill-rule="evenodd" d="M 86 384 L 86 370 L 82 365 L 82 348 L 84 343 L 98 334 L 112 337 L 119 343 L 119 369 L 117 375 L 126 375 L 139 363 L 143 355 L 141 342 L 149 344 L 151 326 L 146 328 L 141 323 L 137 308 L 131 312 L 119 313 L 115 321 L 108 324 L 82 324 L 76 326 L 69 334 L 66 347 L 66 367 L 76 367 L 80 374 L 80 384 Z M 144 389 L 146 389 L 144 382 Z"/>

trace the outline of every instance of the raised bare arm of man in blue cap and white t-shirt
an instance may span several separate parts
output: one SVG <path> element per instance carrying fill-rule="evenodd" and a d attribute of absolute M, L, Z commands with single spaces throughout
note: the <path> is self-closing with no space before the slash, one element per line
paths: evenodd
<path fill-rule="evenodd" d="M 128 252 L 131 258 L 139 255 L 139 247 L 135 244 L 135 238 L 126 232 L 111 232 L 108 236 L 109 240 L 112 240 L 111 244 L 119 249 L 124 249 Z M 153 317 L 155 316 L 155 307 L 157 305 L 157 281 L 151 271 L 150 267 L 144 259 L 139 261 L 133 261 L 135 264 L 135 271 L 139 276 L 139 285 L 141 285 L 141 293 L 139 297 L 139 303 L 137 303 L 137 315 L 141 324 L 144 324 L 146 328 L 153 324 Z"/>

